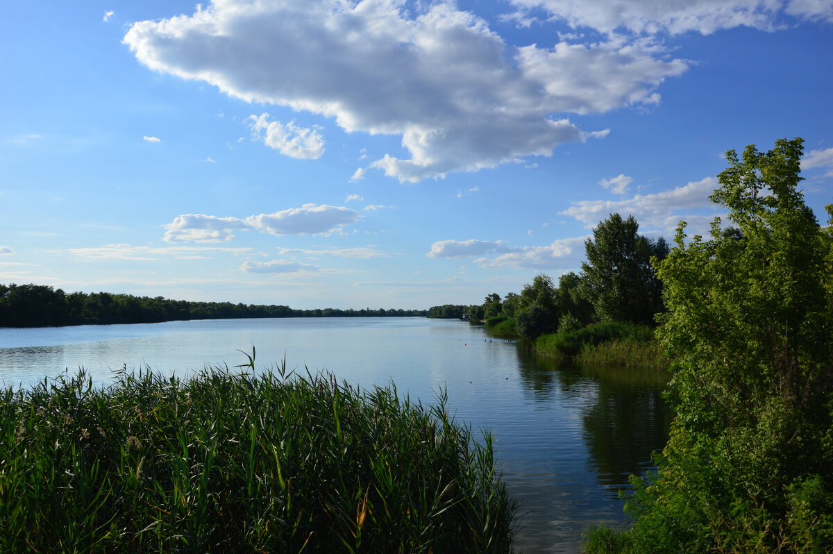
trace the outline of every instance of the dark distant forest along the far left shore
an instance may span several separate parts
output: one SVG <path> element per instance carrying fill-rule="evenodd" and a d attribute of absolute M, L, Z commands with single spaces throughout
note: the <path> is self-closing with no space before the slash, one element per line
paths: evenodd
<path fill-rule="evenodd" d="M 287 306 L 187 302 L 109 292 L 72 292 L 44 285 L 0 284 L 0 327 L 58 327 L 105 323 L 157 323 L 237 317 L 403 317 L 426 310 L 295 310 Z"/>

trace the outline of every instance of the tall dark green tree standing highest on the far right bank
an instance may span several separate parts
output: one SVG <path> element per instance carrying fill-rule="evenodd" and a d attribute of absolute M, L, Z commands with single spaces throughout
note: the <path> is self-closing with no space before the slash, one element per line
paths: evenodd
<path fill-rule="evenodd" d="M 579 290 L 601 321 L 651 324 L 662 310 L 662 287 L 651 257 L 663 259 L 668 246 L 664 238 L 652 241 L 638 230 L 633 216 L 622 219 L 613 213 L 585 242 Z"/>

